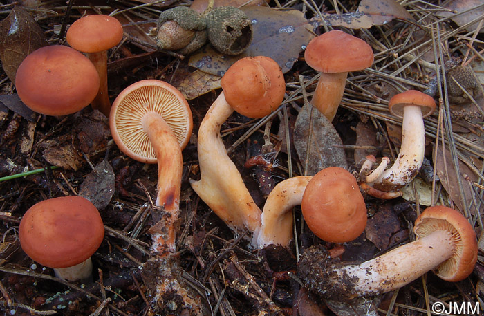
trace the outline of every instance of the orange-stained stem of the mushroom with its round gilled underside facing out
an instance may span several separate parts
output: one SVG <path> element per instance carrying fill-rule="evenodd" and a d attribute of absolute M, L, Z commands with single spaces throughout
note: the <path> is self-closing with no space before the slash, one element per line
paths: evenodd
<path fill-rule="evenodd" d="M 183 173 L 183 157 L 180 144 L 161 115 L 148 112 L 142 118 L 142 126 L 148 134 L 158 160 L 158 193 L 156 206 L 165 211 L 149 233 L 153 238 L 153 250 L 160 254 L 176 252 L 176 221 L 180 210 L 180 186 Z"/>

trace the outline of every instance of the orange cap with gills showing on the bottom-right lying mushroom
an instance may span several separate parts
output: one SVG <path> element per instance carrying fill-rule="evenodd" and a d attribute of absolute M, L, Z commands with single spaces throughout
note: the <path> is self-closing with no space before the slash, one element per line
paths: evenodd
<path fill-rule="evenodd" d="M 436 230 L 447 230 L 454 240 L 454 256 L 434 269 L 438 277 L 456 282 L 468 277 L 477 261 L 476 233 L 469 221 L 452 208 L 437 205 L 427 207 L 413 227 L 417 239 Z"/>

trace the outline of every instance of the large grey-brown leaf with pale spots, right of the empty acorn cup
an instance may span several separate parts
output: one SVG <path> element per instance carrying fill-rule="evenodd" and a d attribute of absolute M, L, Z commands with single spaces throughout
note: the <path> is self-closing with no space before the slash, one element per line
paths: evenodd
<path fill-rule="evenodd" d="M 225 56 L 207 45 L 190 57 L 189 64 L 212 75 L 223 76 L 237 60 L 246 56 L 267 56 L 274 59 L 286 73 L 299 57 L 314 35 L 309 31 L 302 12 L 298 10 L 279 11 L 263 6 L 241 8 L 252 21 L 254 39 L 245 52 L 236 56 Z"/>

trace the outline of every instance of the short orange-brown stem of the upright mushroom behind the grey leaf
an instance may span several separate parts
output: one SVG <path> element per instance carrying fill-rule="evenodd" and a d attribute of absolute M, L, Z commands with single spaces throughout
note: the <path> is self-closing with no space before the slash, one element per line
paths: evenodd
<path fill-rule="evenodd" d="M 348 73 L 319 73 L 311 104 L 331 122 L 342 100 Z"/>

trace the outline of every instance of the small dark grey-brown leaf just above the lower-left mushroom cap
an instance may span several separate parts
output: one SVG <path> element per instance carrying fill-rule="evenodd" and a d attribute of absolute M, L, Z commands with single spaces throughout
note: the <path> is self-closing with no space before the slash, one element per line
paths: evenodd
<path fill-rule="evenodd" d="M 111 202 L 115 190 L 113 167 L 107 159 L 102 160 L 81 185 L 79 196 L 91 201 L 97 210 L 104 210 Z"/>

